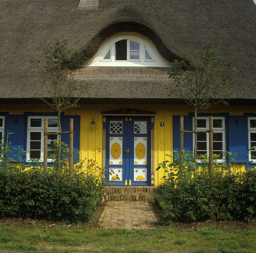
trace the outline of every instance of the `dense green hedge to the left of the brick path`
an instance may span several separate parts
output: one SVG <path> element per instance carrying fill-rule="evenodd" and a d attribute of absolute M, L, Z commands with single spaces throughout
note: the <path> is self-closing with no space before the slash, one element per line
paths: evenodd
<path fill-rule="evenodd" d="M 20 172 L 0 167 L 2 217 L 88 221 L 102 199 L 104 184 L 97 176 L 72 178 L 41 168 Z"/>

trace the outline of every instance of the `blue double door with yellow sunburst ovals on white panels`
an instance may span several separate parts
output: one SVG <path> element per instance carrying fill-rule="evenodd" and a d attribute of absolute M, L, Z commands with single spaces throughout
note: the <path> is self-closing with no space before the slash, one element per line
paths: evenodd
<path fill-rule="evenodd" d="M 149 117 L 108 117 L 106 180 L 114 185 L 150 185 Z"/>

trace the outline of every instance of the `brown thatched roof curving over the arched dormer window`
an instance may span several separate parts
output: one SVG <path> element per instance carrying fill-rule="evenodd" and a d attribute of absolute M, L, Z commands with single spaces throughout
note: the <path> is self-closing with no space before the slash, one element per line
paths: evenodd
<path fill-rule="evenodd" d="M 232 99 L 256 99 L 256 5 L 253 0 L 2 0 L 0 4 L 0 98 L 29 101 L 44 96 L 35 66 L 36 48 L 67 38 L 92 57 L 100 43 L 121 31 L 150 38 L 167 60 L 209 40 L 235 66 Z M 97 5 L 99 2 L 99 6 Z M 78 8 L 80 4 L 80 7 Z M 97 7 L 98 6 L 98 7 Z M 166 69 L 87 67 L 87 101 L 170 99 Z M 116 100 L 118 101 L 118 100 Z M 238 101 L 238 100 L 236 100 Z M 255 103 L 255 101 L 252 103 Z"/>

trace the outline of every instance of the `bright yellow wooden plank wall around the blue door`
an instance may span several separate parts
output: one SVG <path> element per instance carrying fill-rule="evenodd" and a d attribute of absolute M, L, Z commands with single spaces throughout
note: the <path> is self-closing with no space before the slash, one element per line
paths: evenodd
<path fill-rule="evenodd" d="M 81 159 L 96 159 L 102 164 L 102 111 L 117 109 L 137 109 L 156 112 L 154 131 L 154 167 L 158 163 L 166 160 L 166 155 L 173 149 L 172 140 L 172 116 L 188 115 L 193 109 L 188 105 L 171 104 L 81 104 L 80 107 L 67 110 L 65 115 L 81 115 L 80 126 L 80 150 Z M 20 115 L 24 112 L 52 112 L 52 109 L 45 104 L 0 104 L 0 112 L 9 112 L 10 115 Z M 229 115 L 244 115 L 244 113 L 256 113 L 256 105 L 230 105 L 218 106 L 207 110 L 199 110 L 199 113 L 229 113 Z M 89 123 L 94 118 L 96 126 L 92 129 Z M 164 127 L 160 127 L 160 122 L 164 122 Z M 240 167 L 239 167 L 240 169 Z M 244 169 L 241 166 L 241 169 Z M 155 173 L 155 184 L 161 182 L 163 170 Z"/>

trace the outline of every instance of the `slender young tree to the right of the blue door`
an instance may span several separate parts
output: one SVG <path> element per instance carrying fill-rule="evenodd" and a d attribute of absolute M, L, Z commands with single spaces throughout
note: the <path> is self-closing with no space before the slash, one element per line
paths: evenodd
<path fill-rule="evenodd" d="M 197 115 L 198 109 L 207 109 L 216 104 L 227 104 L 225 99 L 232 94 L 230 76 L 231 62 L 218 55 L 212 41 L 198 50 L 191 50 L 182 61 L 175 60 L 169 77 L 175 86 L 170 92 L 194 107 L 194 163 L 197 162 Z"/>

